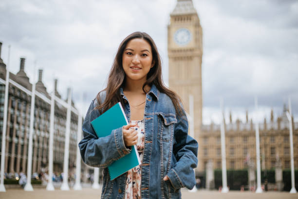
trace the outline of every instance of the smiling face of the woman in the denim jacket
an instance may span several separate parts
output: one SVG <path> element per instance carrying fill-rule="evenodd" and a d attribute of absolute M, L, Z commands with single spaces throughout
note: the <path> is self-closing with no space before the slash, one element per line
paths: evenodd
<path fill-rule="evenodd" d="M 127 80 L 145 82 L 153 66 L 149 42 L 139 38 L 130 40 L 123 51 L 122 66 Z"/>

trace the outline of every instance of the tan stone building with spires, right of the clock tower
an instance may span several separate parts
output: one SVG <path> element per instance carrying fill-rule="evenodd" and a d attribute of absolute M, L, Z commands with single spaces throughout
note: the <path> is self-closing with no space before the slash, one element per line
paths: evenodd
<path fill-rule="evenodd" d="M 290 141 L 289 121 L 286 117 L 287 108 L 284 107 L 283 114 L 274 119 L 271 111 L 270 121 L 259 123 L 260 129 L 260 156 L 261 170 L 274 169 L 276 160 L 280 159 L 282 169 L 290 169 Z M 203 132 L 199 138 L 199 157 L 203 164 L 199 171 L 205 170 L 205 165 L 212 160 L 214 169 L 222 168 L 220 125 L 203 125 Z M 294 165 L 298 168 L 298 122 L 293 123 L 294 143 Z M 225 152 L 226 167 L 230 170 L 246 169 L 250 160 L 256 164 L 256 132 L 255 123 L 248 119 L 246 121 L 237 119 L 225 121 Z"/>

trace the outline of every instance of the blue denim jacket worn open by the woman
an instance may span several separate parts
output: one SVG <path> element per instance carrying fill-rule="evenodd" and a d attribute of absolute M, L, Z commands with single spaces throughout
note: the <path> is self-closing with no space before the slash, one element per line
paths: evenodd
<path fill-rule="evenodd" d="M 124 112 L 130 120 L 129 102 L 122 89 L 120 94 L 125 101 Z M 101 99 L 105 99 L 105 95 L 103 93 Z M 86 164 L 104 168 L 101 198 L 123 199 L 127 174 L 111 180 L 107 166 L 130 153 L 130 149 L 124 144 L 122 128 L 112 130 L 111 135 L 104 138 L 96 136 L 90 123 L 100 115 L 95 109 L 96 105 L 98 102 L 94 99 L 83 122 L 84 138 L 79 143 L 81 156 Z M 180 188 L 192 189 L 195 185 L 193 169 L 198 162 L 198 143 L 187 135 L 186 114 L 176 114 L 171 99 L 160 93 L 153 84 L 146 95 L 144 120 L 145 149 L 141 164 L 141 198 L 180 199 Z M 169 180 L 164 181 L 166 175 Z"/>

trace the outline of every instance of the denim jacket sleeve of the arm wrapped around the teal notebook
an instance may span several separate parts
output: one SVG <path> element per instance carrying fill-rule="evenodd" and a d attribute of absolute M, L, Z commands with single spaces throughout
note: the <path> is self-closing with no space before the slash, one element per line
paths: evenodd
<path fill-rule="evenodd" d="M 99 111 L 95 108 L 93 100 L 82 125 L 83 139 L 78 146 L 86 164 L 93 167 L 107 167 L 113 161 L 130 153 L 130 149 L 126 148 L 124 144 L 122 127 L 112 130 L 109 136 L 97 137 L 91 121 L 99 116 Z"/>

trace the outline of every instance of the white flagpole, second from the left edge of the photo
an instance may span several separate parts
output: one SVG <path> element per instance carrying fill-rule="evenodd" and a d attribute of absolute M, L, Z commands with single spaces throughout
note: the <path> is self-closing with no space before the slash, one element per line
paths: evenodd
<path fill-rule="evenodd" d="M 35 87 L 36 87 L 36 62 L 34 66 L 34 77 L 32 84 L 32 96 L 31 96 L 31 109 L 30 109 L 30 128 L 29 128 L 29 146 L 28 146 L 28 162 L 27 162 L 27 183 L 24 187 L 25 191 L 33 191 L 31 185 L 31 174 L 32 174 L 32 145 L 33 145 L 33 124 L 34 124 L 34 108 L 35 108 Z"/>

